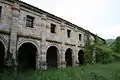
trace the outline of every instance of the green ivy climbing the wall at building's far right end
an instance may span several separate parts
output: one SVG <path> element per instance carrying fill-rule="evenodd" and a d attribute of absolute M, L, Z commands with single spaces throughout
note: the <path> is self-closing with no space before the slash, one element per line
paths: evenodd
<path fill-rule="evenodd" d="M 95 40 L 92 41 L 90 39 L 89 31 L 86 31 L 85 35 L 86 35 L 85 63 L 93 64 L 93 63 L 102 61 L 103 58 L 106 59 L 105 57 L 108 57 L 107 53 L 110 53 L 110 52 L 109 52 L 109 50 L 104 48 L 105 42 L 103 40 L 101 40 L 97 35 L 94 35 Z M 91 44 L 91 43 L 93 43 L 93 44 Z"/>

